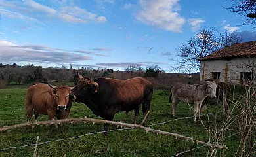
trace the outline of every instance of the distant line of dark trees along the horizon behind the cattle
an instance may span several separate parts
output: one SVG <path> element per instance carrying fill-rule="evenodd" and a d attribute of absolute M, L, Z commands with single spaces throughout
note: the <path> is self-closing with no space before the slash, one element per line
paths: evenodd
<path fill-rule="evenodd" d="M 78 70 L 83 76 L 91 79 L 98 77 L 110 77 L 111 73 L 138 73 L 142 77 L 158 78 L 161 68 L 158 65 L 152 65 L 142 68 L 141 65 L 128 65 L 124 71 L 114 71 L 113 69 L 98 69 L 95 70 L 91 67 L 82 67 Z M 131 75 L 132 77 L 132 75 Z M 12 65 L 3 65 L 0 63 L 0 80 L 9 84 L 30 84 L 33 82 L 77 82 L 77 70 L 70 67 L 47 67 L 34 66 L 33 64 L 19 66 L 16 63 Z"/>

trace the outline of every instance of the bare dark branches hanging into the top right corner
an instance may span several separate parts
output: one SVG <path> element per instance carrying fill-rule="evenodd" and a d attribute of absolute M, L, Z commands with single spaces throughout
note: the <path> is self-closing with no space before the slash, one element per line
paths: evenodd
<path fill-rule="evenodd" d="M 240 16 L 247 16 L 244 24 L 256 26 L 256 1 L 255 0 L 230 0 L 233 2 L 231 7 L 226 8 L 231 12 L 236 12 Z"/>

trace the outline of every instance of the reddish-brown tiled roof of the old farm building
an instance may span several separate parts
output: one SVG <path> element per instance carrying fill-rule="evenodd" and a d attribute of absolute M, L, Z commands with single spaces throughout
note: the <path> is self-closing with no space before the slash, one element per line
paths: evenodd
<path fill-rule="evenodd" d="M 256 41 L 236 43 L 213 52 L 199 60 L 214 60 L 219 58 L 237 58 L 243 56 L 256 56 Z"/>

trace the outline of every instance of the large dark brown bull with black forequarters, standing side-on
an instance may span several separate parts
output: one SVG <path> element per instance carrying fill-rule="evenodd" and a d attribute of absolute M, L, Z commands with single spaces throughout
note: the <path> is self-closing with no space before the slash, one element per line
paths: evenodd
<path fill-rule="evenodd" d="M 120 111 L 134 110 L 136 123 L 140 104 L 144 116 L 150 109 L 153 86 L 142 77 L 127 80 L 110 78 L 91 80 L 79 75 L 79 78 L 73 92 L 77 97 L 76 101 L 85 103 L 93 114 L 105 120 L 113 120 L 114 115 Z M 108 124 L 104 124 L 104 131 L 107 130 Z"/>

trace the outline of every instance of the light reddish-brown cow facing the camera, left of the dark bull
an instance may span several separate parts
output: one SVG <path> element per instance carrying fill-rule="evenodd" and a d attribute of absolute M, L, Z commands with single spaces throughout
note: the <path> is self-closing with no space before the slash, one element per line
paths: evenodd
<path fill-rule="evenodd" d="M 48 115 L 49 120 L 54 120 L 54 116 L 58 119 L 67 118 L 70 114 L 72 101 L 76 98 L 71 93 L 73 88 L 43 83 L 30 86 L 25 99 L 27 120 L 30 122 L 33 110 L 35 119 L 37 119 L 38 114 Z M 52 129 L 50 135 L 51 131 Z"/>

